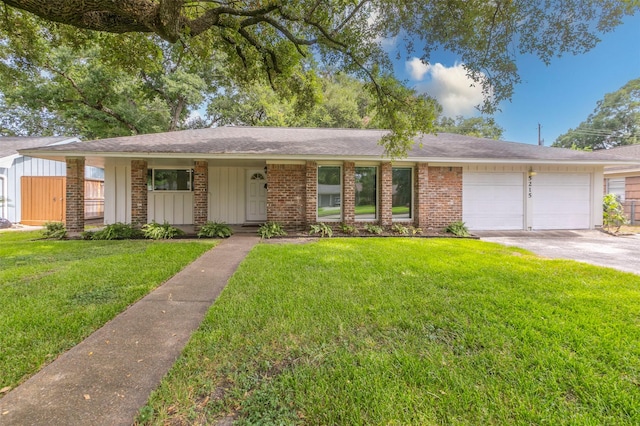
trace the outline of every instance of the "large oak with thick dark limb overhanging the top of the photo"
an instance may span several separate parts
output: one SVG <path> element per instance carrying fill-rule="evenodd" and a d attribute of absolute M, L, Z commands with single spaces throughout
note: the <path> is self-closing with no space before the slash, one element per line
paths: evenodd
<path fill-rule="evenodd" d="M 288 90 L 289 77 L 305 57 L 367 80 L 379 122 L 393 133 L 385 140 L 392 155 L 402 154 L 418 132 L 433 130 L 433 103 L 407 96 L 392 76 L 385 37 L 403 36 L 409 51 L 422 48 L 458 55 L 486 95 L 485 111 L 510 97 L 519 81 L 515 57 L 534 53 L 545 62 L 555 55 L 580 53 L 598 41 L 625 14 L 638 9 L 624 0 L 498 0 L 424 2 L 352 0 L 319 2 L 185 0 L 3 0 L 7 6 L 47 21 L 116 34 L 156 34 L 170 43 L 201 43 L 217 52 L 235 80 L 263 78 Z M 22 29 L 24 14 L 5 10 L 1 25 Z M 568 19 L 567 17 L 570 17 Z M 198 41 L 196 41 L 198 40 Z M 144 56 L 144 51 L 137 55 Z M 293 86 L 296 89 L 297 86 Z"/>

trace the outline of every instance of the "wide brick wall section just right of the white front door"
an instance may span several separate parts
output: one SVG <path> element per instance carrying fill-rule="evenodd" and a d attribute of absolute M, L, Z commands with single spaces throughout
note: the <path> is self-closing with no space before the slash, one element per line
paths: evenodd
<path fill-rule="evenodd" d="M 267 220 L 302 228 L 306 220 L 307 169 L 303 164 L 267 165 Z"/>

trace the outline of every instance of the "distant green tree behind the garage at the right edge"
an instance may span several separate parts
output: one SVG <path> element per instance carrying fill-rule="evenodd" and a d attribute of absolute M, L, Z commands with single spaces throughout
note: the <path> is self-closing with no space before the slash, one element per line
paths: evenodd
<path fill-rule="evenodd" d="M 553 146 L 608 149 L 640 143 L 640 78 L 607 93 L 577 128 L 558 136 Z"/>

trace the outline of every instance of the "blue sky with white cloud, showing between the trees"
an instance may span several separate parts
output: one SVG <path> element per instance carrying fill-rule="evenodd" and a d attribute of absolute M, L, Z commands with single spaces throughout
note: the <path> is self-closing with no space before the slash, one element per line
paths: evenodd
<path fill-rule="evenodd" d="M 549 146 L 584 121 L 606 93 L 640 77 L 640 14 L 627 17 L 600 38 L 588 53 L 555 58 L 549 66 L 535 57 L 518 58 L 522 82 L 494 116 L 505 129 L 504 140 L 537 143 L 540 123 L 542 139 Z M 481 98 L 469 88 L 456 58 L 434 54 L 431 64 L 425 68 L 417 60 L 403 59 L 395 64 L 395 73 L 409 86 L 436 97 L 449 115 L 474 115 L 473 105 Z"/>

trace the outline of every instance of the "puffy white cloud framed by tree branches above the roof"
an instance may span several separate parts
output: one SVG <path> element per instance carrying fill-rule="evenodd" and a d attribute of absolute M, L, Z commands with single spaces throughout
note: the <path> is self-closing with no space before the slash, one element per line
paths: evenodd
<path fill-rule="evenodd" d="M 412 80 L 421 82 L 415 87 L 418 93 L 426 93 L 442 105 L 442 115 L 475 115 L 475 107 L 483 101 L 482 85 L 467 77 L 462 64 L 426 65 L 419 58 L 412 58 L 406 62 L 406 68 Z M 428 78 L 423 81 L 425 77 Z"/>

